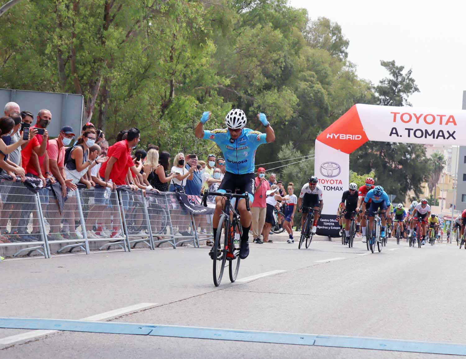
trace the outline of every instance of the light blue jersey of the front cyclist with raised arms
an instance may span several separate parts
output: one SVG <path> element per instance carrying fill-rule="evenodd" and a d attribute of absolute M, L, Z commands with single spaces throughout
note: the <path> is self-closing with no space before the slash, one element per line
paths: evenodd
<path fill-rule="evenodd" d="M 257 147 L 267 143 L 267 134 L 243 128 L 240 137 L 233 140 L 228 129 L 204 130 L 204 139 L 219 145 L 226 162 L 226 172 L 234 174 L 254 173 Z"/>

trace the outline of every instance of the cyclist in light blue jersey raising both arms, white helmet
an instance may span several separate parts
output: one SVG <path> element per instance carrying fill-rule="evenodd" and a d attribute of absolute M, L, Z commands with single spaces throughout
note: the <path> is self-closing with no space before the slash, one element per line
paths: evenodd
<path fill-rule="evenodd" d="M 199 124 L 196 126 L 195 135 L 197 138 L 210 139 L 215 142 L 223 152 L 226 159 L 226 173 L 220 183 L 219 192 L 230 190 L 232 193 L 237 188 L 240 193 L 248 193 L 249 205 L 254 200 L 254 159 L 257 147 L 275 140 L 274 130 L 267 121 L 265 114 L 257 115 L 259 121 L 265 126 L 265 132 L 253 131 L 246 126 L 246 114 L 243 110 L 233 109 L 225 117 L 225 129 L 213 131 L 204 130 L 204 124 L 210 119 L 211 112 L 202 114 Z M 215 198 L 215 212 L 212 218 L 213 237 L 216 238 L 217 227 L 219 225 L 220 213 L 225 206 L 225 199 L 222 196 Z M 240 258 L 245 259 L 249 255 L 249 228 L 251 228 L 251 213 L 246 208 L 246 200 L 241 199 L 238 203 L 238 212 L 241 216 L 241 236 Z M 221 228 L 220 228 L 221 231 Z M 221 233 L 220 233 L 221 235 Z M 212 247 L 209 255 L 215 257 L 217 249 Z"/>

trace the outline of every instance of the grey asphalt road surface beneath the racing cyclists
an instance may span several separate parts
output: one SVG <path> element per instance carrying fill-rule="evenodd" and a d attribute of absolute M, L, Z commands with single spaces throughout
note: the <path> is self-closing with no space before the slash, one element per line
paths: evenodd
<path fill-rule="evenodd" d="M 206 247 L 6 260 L 0 317 L 80 319 L 145 303 L 101 320 L 466 344 L 466 251 L 456 245 L 389 242 L 382 253 L 367 254 L 361 242 L 349 249 L 315 237 L 309 249 L 278 241 L 250 248 L 238 276 L 246 282 L 230 283 L 226 273 L 218 288 Z M 268 272 L 274 274 L 248 280 Z M 0 329 L 0 358 L 443 357 L 71 331 L 11 342 L 23 333 L 31 331 Z"/>

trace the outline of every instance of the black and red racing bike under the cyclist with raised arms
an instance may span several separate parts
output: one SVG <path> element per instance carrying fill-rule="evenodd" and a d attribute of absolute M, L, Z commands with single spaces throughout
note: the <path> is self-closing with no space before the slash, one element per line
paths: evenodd
<path fill-rule="evenodd" d="M 232 283 L 236 280 L 240 270 L 240 238 L 243 234 L 243 228 L 241 227 L 241 217 L 238 212 L 238 202 L 244 198 L 246 200 L 246 208 L 249 211 L 249 196 L 247 192 L 237 194 L 236 191 L 232 193 L 230 190 L 227 190 L 224 193 L 206 190 L 202 197 L 204 207 L 207 207 L 207 196 L 222 196 L 225 198 L 225 206 L 220 214 L 217 235 L 213 243 L 213 248 L 217 249 L 217 255 L 213 257 L 212 266 L 213 283 L 216 287 L 222 281 L 223 270 L 227 261 L 230 281 Z M 232 199 L 236 199 L 234 207 L 231 206 Z"/>

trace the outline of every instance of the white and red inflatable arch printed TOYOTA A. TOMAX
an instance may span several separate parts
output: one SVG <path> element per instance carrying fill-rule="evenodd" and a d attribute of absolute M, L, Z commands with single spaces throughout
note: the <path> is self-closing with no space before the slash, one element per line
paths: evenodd
<path fill-rule="evenodd" d="M 465 135 L 466 111 L 352 106 L 315 139 L 314 173 L 324 193 L 317 234 L 338 236 L 336 209 L 349 186 L 349 154 L 364 143 L 464 145 Z"/>

